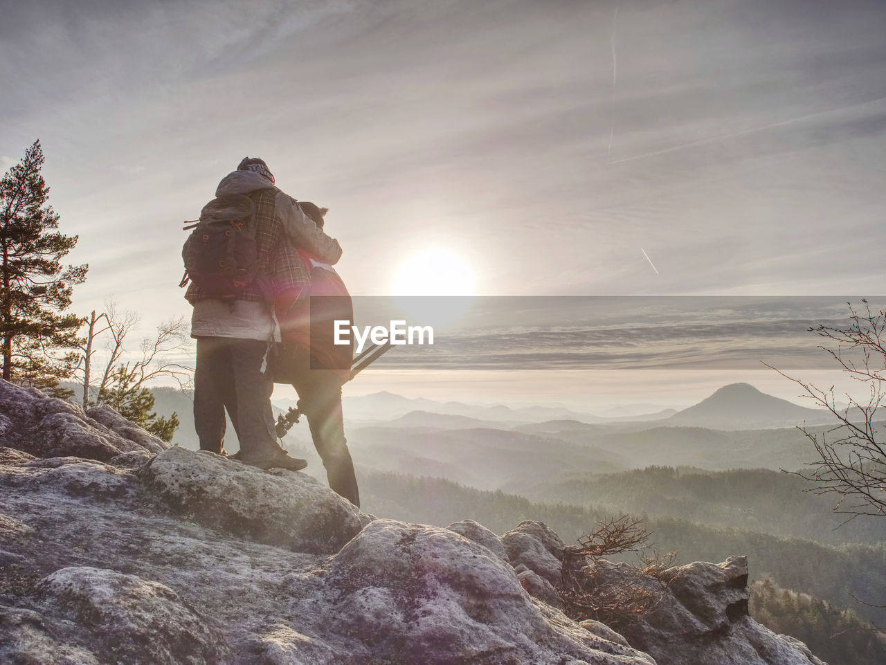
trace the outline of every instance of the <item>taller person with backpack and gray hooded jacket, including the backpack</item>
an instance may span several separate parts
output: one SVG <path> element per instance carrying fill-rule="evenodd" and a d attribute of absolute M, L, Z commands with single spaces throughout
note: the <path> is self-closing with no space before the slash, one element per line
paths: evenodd
<path fill-rule="evenodd" d="M 309 276 L 296 247 L 334 264 L 338 241 L 317 228 L 295 199 L 275 186 L 262 159 L 245 158 L 221 179 L 185 243 L 182 286 L 193 305 L 190 335 L 197 339 L 194 426 L 200 449 L 223 453 L 225 410 L 240 441 L 238 458 L 259 468 L 299 470 L 277 443 L 268 371 L 279 341 L 273 303 L 293 301 Z"/>

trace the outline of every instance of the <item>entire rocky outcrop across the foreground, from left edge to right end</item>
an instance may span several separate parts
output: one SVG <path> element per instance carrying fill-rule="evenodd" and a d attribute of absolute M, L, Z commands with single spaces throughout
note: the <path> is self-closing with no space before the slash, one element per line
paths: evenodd
<path fill-rule="evenodd" d="M 666 606 L 619 635 L 560 611 L 564 545 L 540 522 L 499 537 L 377 520 L 305 474 L 167 448 L 113 411 L 2 382 L 0 406 L 0 662 L 818 663 L 742 615 L 734 562 L 673 569 Z"/>

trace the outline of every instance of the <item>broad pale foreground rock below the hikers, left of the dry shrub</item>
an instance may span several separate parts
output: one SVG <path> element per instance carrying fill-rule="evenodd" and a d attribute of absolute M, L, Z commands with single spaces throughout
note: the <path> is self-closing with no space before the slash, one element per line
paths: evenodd
<path fill-rule="evenodd" d="M 0 460 L 5 661 L 653 662 L 532 599 L 479 525 L 493 549 L 176 448 Z"/>

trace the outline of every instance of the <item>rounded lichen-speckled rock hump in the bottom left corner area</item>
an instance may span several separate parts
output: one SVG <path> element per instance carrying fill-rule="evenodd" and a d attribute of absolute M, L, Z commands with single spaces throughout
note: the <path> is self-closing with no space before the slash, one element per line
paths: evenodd
<path fill-rule="evenodd" d="M 221 630 L 163 584 L 99 568 L 62 568 L 37 585 L 59 630 L 101 661 L 132 665 L 217 663 L 229 653 Z"/>

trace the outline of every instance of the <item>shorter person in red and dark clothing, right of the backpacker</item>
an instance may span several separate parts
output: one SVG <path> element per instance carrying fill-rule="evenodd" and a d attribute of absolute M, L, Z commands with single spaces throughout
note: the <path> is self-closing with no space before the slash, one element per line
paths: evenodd
<path fill-rule="evenodd" d="M 299 201 L 299 209 L 324 227 L 327 208 Z M 347 447 L 341 407 L 342 385 L 351 378 L 353 342 L 336 344 L 335 321 L 354 321 L 351 296 L 334 261 L 299 245 L 299 256 L 310 277 L 309 298 L 277 299 L 276 312 L 282 344 L 278 345 L 274 381 L 290 383 L 299 393 L 298 411 L 307 417 L 314 446 L 323 460 L 330 488 L 360 506 L 354 461 Z"/>

